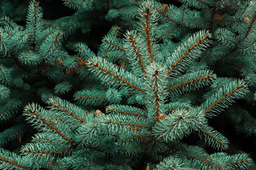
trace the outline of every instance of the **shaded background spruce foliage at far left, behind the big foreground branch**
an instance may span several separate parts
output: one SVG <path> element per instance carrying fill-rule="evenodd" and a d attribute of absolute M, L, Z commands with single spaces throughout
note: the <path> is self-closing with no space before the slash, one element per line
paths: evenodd
<path fill-rule="evenodd" d="M 53 87 L 57 96 L 71 89 L 63 81 L 68 76 L 63 71 L 68 68 L 64 69 L 64 64 L 59 64 L 58 57 L 68 58 L 70 62 L 76 60 L 68 57 L 68 52 L 60 45 L 65 32 L 44 23 L 38 1 L 31 1 L 28 6 L 26 26 L 18 26 L 8 16 L 0 19 L 1 127 L 8 123 L 10 126 L 10 120 L 16 127 L 3 132 L 1 147 L 8 141 L 18 140 L 29 127 L 17 111 L 35 98 L 38 100 L 38 96 L 47 100 L 53 96 Z M 15 126 L 20 123 L 21 126 Z"/>

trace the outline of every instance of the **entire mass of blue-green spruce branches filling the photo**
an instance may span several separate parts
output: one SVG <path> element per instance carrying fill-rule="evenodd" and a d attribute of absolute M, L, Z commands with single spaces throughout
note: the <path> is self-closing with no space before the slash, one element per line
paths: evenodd
<path fill-rule="evenodd" d="M 118 10 L 110 10 L 106 18 L 121 17 L 134 23 L 135 29 L 122 34 L 122 28 L 113 26 L 97 54 L 77 42 L 72 48 L 76 55 L 69 55 L 61 40 L 72 31 L 58 28 L 61 20 L 56 25 L 44 21 L 36 0 L 28 6 L 26 28 L 6 16 L 1 18 L 0 120 L 14 117 L 9 108 L 26 104 L 22 116 L 38 133 L 20 152 L 1 148 L 0 168 L 256 169 L 249 154 L 227 152 L 228 138 L 208 123 L 240 98 L 255 100 L 251 95 L 256 86 L 251 33 L 255 16 L 247 10 L 256 10 L 256 2 L 181 2 L 184 5 L 179 8 L 159 1 L 121 8 L 117 1 L 107 1 Z M 64 4 L 77 14 L 97 5 L 96 1 L 79 0 Z M 230 9 L 238 4 L 237 11 Z M 136 12 L 131 17 L 132 9 Z M 129 13 L 127 18 L 124 11 Z M 231 26 L 225 17 L 232 20 Z M 244 54 L 242 59 L 247 57 L 248 65 L 239 76 L 215 69 L 216 64 L 242 60 L 240 54 Z M 86 74 L 101 84 L 88 88 L 81 78 Z M 78 89 L 74 102 L 61 98 L 73 86 Z M 27 92 L 31 92 L 28 98 L 40 96 L 48 106 L 23 100 Z M 242 123 L 242 118 L 236 119 L 239 114 L 232 116 L 234 122 Z M 0 146 L 6 144 L 9 133 L 11 139 L 23 134 L 20 129 L 24 129 L 22 125 L 1 132 Z M 252 128 L 250 135 L 253 133 Z M 182 141 L 195 134 L 203 144 Z M 215 152 L 209 154 L 204 145 Z"/>

